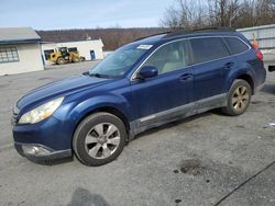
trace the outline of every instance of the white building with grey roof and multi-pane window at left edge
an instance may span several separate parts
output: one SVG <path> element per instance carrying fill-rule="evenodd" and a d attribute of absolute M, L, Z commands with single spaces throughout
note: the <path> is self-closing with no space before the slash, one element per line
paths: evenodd
<path fill-rule="evenodd" d="M 0 76 L 43 70 L 40 42 L 31 27 L 0 27 Z"/>

